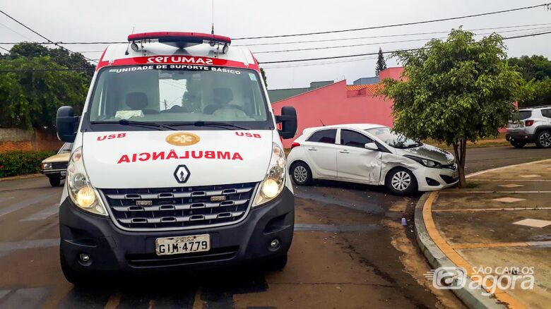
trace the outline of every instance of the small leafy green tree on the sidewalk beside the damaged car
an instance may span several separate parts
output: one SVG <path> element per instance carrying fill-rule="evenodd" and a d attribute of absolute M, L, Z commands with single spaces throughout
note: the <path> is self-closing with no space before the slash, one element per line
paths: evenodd
<path fill-rule="evenodd" d="M 379 95 L 393 99 L 394 131 L 453 145 L 459 186 L 466 186 L 467 141 L 495 136 L 523 95 L 521 73 L 506 61 L 502 37 L 480 41 L 472 32 L 451 30 L 446 41 L 393 54 L 403 80 L 382 80 Z"/>

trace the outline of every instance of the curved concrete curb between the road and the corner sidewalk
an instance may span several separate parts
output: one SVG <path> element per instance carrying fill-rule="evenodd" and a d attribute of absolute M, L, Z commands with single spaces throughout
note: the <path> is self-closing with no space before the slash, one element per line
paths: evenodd
<path fill-rule="evenodd" d="M 457 265 L 451 262 L 442 250 L 438 248 L 437 244 L 432 241 L 427 231 L 427 227 L 425 226 L 423 207 L 430 194 L 431 192 L 423 194 L 415 206 L 415 238 L 432 269 L 437 269 L 438 267 L 457 267 Z M 467 286 L 470 285 L 471 281 L 470 278 L 467 278 L 467 284 L 463 288 L 451 290 L 468 308 L 507 308 L 505 305 L 498 303 L 496 298 L 483 296 L 482 290 L 480 289 L 468 289 Z"/>

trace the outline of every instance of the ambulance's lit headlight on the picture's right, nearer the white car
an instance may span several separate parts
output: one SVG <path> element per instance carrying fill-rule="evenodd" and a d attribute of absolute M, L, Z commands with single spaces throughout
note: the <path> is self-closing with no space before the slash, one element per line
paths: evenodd
<path fill-rule="evenodd" d="M 283 149 L 278 144 L 273 143 L 268 172 L 260 183 L 259 190 L 256 190 L 252 207 L 263 205 L 280 195 L 285 187 L 286 171 L 287 163 L 285 162 Z"/>

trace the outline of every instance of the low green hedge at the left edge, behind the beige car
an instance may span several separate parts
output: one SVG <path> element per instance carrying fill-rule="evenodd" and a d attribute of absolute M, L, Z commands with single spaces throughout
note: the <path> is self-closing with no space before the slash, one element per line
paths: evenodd
<path fill-rule="evenodd" d="M 43 159 L 54 155 L 52 151 L 9 151 L 0 153 L 0 178 L 40 172 Z"/>

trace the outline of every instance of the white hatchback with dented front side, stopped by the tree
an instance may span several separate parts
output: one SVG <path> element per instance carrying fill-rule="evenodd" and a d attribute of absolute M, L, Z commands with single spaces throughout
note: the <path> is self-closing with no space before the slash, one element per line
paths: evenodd
<path fill-rule="evenodd" d="M 328 179 L 386 186 L 396 195 L 456 185 L 454 155 L 377 124 L 304 129 L 288 156 L 297 185 Z"/>

